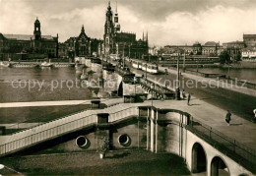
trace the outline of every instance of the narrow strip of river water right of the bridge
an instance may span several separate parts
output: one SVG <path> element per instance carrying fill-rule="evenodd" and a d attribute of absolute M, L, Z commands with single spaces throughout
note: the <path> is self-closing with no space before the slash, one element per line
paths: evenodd
<path fill-rule="evenodd" d="M 189 69 L 194 70 L 196 69 Z M 199 68 L 199 72 L 208 74 L 223 74 L 228 75 L 227 68 Z M 237 80 L 246 80 L 248 82 L 256 84 L 256 68 L 255 69 L 232 69 L 230 68 L 230 78 Z"/>

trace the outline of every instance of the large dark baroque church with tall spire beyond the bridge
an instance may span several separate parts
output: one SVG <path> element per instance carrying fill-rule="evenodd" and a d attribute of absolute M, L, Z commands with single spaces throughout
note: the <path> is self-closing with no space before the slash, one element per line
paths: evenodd
<path fill-rule="evenodd" d="M 143 58 L 149 54 L 148 33 L 146 37 L 137 40 L 136 33 L 124 32 L 118 22 L 117 4 L 113 16 L 110 2 L 105 13 L 102 53 L 104 55 L 119 54 L 132 58 Z"/>

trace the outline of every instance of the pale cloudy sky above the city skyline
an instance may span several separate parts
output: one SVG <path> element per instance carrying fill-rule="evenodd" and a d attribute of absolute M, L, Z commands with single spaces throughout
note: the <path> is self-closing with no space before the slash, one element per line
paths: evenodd
<path fill-rule="evenodd" d="M 116 1 L 111 1 L 115 11 Z M 102 38 L 107 0 L 0 0 L 0 32 L 32 34 L 38 17 L 42 34 L 65 41 L 82 25 Z M 242 40 L 256 33 L 256 0 L 117 0 L 121 30 L 137 38 L 149 32 L 151 45 Z"/>

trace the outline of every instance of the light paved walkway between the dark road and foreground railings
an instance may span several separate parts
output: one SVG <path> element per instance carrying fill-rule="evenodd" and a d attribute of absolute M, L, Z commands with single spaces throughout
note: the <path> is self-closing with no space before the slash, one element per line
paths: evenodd
<path fill-rule="evenodd" d="M 121 103 L 119 105 L 114 105 L 108 107 L 106 109 L 100 110 L 88 110 L 84 111 L 83 114 L 91 114 L 91 113 L 112 113 L 115 111 L 120 111 L 122 109 L 126 109 L 129 107 L 136 107 L 140 105 L 151 105 L 152 101 L 145 101 L 144 103 Z M 232 115 L 230 126 L 227 126 L 224 118 L 226 111 L 211 105 L 203 100 L 199 100 L 196 98 L 191 99 L 191 105 L 187 105 L 186 100 L 154 100 L 153 105 L 158 108 L 170 108 L 170 109 L 178 109 L 181 111 L 188 112 L 195 119 L 200 122 L 212 127 L 215 130 L 223 133 L 225 136 L 234 139 L 236 142 L 246 145 L 252 149 L 256 149 L 256 125 L 244 120 L 238 116 Z M 110 109 L 109 109 L 110 108 Z M 98 112 L 97 112 L 98 111 Z M 77 118 L 82 118 L 84 115 L 81 115 Z M 121 115 L 121 114 L 120 114 Z M 65 123 L 69 121 L 67 116 L 65 117 Z M 118 117 L 122 118 L 122 117 Z M 74 118 L 70 118 L 70 120 L 74 120 Z M 50 124 L 50 126 L 59 125 L 59 124 Z M 22 137 L 21 137 L 22 138 Z M 0 145 L 5 144 L 7 142 L 12 141 L 10 136 L 2 136 L 0 137 Z"/>

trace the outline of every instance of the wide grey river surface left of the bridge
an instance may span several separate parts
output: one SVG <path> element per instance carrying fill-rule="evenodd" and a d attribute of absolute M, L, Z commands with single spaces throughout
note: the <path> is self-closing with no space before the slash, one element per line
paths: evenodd
<path fill-rule="evenodd" d="M 29 88 L 28 85 L 22 88 L 18 84 L 12 84 L 12 82 L 0 83 L 0 102 L 93 98 L 89 88 L 68 88 L 65 84 L 63 84 L 63 87 L 51 88 L 53 80 L 58 81 L 58 83 L 62 80 L 73 80 L 75 82 L 79 77 L 75 68 L 1 68 L 1 81 L 36 80 L 38 82 L 33 88 Z M 43 84 L 42 81 L 44 81 Z M 40 88 L 37 83 L 42 84 L 42 87 Z M 23 87 L 24 84 L 22 84 Z M 13 85 L 18 88 L 14 88 Z"/>

